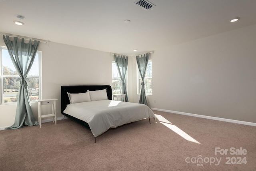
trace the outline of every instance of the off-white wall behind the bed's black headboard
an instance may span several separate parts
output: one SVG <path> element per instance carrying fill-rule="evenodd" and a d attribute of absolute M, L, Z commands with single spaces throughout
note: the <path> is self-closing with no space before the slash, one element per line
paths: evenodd
<path fill-rule="evenodd" d="M 0 46 L 5 46 L 2 38 Z M 59 99 L 57 117 L 62 116 L 61 85 L 112 85 L 113 56 L 110 53 L 54 42 L 49 42 L 48 47 L 40 43 L 38 50 L 42 51 L 42 98 Z M 37 119 L 37 103 L 31 106 Z M 15 112 L 15 104 L 0 105 L 0 129 L 14 123 Z"/>

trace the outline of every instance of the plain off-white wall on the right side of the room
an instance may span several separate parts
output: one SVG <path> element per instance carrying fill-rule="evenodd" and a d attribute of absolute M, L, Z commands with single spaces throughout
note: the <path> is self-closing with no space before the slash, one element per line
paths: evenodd
<path fill-rule="evenodd" d="M 162 48 L 151 59 L 151 107 L 256 123 L 256 25 Z M 134 74 L 134 94 L 135 82 Z"/>

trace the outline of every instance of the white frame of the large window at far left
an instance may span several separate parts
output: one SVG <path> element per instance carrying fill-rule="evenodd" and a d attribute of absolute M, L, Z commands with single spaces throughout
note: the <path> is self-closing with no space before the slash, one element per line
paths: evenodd
<path fill-rule="evenodd" d="M 3 74 L 3 58 L 2 50 L 7 50 L 6 46 L 0 46 L 0 105 L 17 104 L 17 102 L 4 102 L 4 78 L 20 78 L 19 75 L 4 75 Z M 42 51 L 37 51 L 38 54 L 38 76 L 27 76 L 26 78 L 38 78 L 38 99 L 42 99 Z M 36 102 L 36 100 L 30 100 L 30 102 Z"/>

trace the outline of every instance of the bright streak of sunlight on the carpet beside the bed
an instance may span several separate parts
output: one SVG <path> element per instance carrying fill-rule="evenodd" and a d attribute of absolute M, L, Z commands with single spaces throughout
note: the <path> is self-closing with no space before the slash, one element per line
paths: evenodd
<path fill-rule="evenodd" d="M 175 133 L 177 133 L 178 135 L 180 135 L 182 138 L 186 139 L 187 141 L 191 141 L 193 143 L 201 144 L 198 141 L 196 141 L 194 138 L 192 138 L 190 135 L 188 135 L 186 132 L 182 131 L 180 128 L 178 128 L 177 126 L 173 125 L 170 121 L 165 119 L 162 115 L 156 115 L 156 118 L 164 126 L 168 127 L 169 129 L 171 129 L 172 131 L 174 131 Z"/>

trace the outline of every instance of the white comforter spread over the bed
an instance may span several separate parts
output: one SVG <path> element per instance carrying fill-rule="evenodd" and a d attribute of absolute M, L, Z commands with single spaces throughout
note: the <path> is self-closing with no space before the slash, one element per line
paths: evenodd
<path fill-rule="evenodd" d="M 154 118 L 144 104 L 113 100 L 88 101 L 67 105 L 64 113 L 87 122 L 94 137 L 115 128 L 145 118 Z"/>

